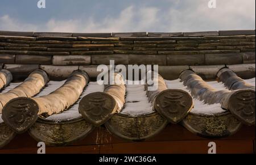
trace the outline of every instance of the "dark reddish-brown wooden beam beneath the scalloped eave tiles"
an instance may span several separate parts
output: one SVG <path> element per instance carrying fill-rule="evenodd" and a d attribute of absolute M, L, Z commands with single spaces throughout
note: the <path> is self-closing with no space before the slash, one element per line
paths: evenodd
<path fill-rule="evenodd" d="M 175 132 L 175 134 L 173 134 Z M 46 153 L 208 153 L 208 142 L 216 142 L 217 154 L 253 154 L 254 126 L 243 126 L 236 134 L 225 138 L 207 139 L 192 134 L 180 125 L 169 124 L 155 137 L 143 142 L 126 141 L 110 134 L 105 128 L 96 128 L 90 136 L 64 147 L 46 147 Z M 28 133 L 18 134 L 0 150 L 7 153 L 36 153 L 35 139 Z M 187 144 L 187 146 L 185 146 Z M 195 146 L 194 146 L 195 145 Z M 104 147 L 106 146 L 106 147 Z M 109 146 L 113 146 L 109 147 Z M 119 149 L 118 149 L 119 147 Z M 101 152 L 100 152 L 101 151 Z"/>

